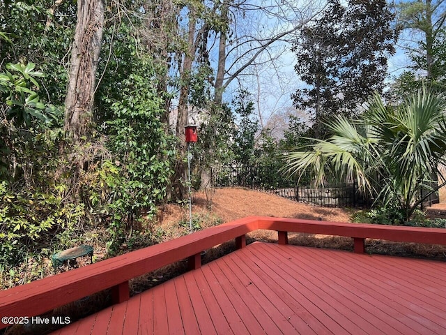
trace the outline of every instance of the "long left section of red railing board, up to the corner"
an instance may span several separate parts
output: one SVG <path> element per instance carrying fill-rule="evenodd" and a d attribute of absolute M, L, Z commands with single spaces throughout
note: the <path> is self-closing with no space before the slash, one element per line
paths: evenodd
<path fill-rule="evenodd" d="M 39 315 L 256 229 L 256 218 L 201 230 L 79 269 L 0 291 L 0 315 Z M 0 325 L 0 327 L 5 327 Z"/>

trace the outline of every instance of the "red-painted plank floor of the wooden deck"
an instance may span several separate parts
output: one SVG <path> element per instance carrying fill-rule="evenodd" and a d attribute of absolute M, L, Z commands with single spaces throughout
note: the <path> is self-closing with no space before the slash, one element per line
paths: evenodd
<path fill-rule="evenodd" d="M 446 334 L 446 263 L 256 242 L 53 334 Z"/>

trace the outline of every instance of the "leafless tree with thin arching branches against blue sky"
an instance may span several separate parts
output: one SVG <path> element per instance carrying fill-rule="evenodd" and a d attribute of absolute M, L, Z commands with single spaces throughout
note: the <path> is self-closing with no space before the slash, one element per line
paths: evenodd
<path fill-rule="evenodd" d="M 311 21 L 321 6 L 317 1 L 224 1 L 226 10 L 222 20 L 230 31 L 220 33 L 219 57 L 215 79 L 215 102 L 221 103 L 222 94 L 233 80 L 253 65 L 279 67 L 275 61 L 289 50 L 294 34 Z M 227 15 L 227 16 L 226 16 Z M 231 34 L 232 38 L 227 38 Z"/>

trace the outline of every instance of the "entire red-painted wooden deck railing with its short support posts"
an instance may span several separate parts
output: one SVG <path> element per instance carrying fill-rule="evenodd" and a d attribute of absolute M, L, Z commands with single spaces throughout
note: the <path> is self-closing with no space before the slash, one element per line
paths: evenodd
<path fill-rule="evenodd" d="M 355 253 L 364 252 L 366 238 L 446 244 L 446 230 L 439 228 L 251 216 L 0 291 L 0 315 L 36 316 L 108 288 L 112 288 L 115 303 L 125 301 L 130 297 L 128 281 L 131 278 L 185 258 L 189 261 L 190 269 L 197 269 L 201 266 L 201 251 L 231 239 L 236 239 L 237 248 L 243 248 L 246 245 L 245 234 L 258 229 L 276 230 L 279 244 L 288 243 L 288 232 L 352 237 Z M 0 323 L 0 329 L 7 326 Z"/>

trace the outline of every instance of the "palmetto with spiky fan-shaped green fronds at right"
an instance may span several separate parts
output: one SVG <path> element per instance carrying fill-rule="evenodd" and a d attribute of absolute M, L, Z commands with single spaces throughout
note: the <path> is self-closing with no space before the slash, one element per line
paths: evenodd
<path fill-rule="evenodd" d="M 338 116 L 327 124 L 328 140 L 286 155 L 286 172 L 312 174 L 321 185 L 328 171 L 384 207 L 396 204 L 406 220 L 431 193 L 445 184 L 445 99 L 429 89 L 408 96 L 400 105 L 385 105 L 376 94 L 356 120 Z M 433 180 L 438 176 L 438 184 Z M 427 190 L 421 196 L 421 189 Z"/>

